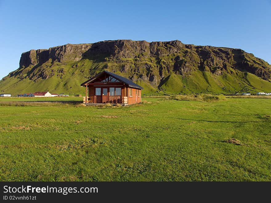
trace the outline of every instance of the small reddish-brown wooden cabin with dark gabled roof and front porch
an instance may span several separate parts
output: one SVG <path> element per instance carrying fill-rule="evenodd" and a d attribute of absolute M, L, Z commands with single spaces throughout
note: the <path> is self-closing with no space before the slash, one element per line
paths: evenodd
<path fill-rule="evenodd" d="M 136 104 L 141 103 L 141 90 L 138 84 L 109 71 L 102 71 L 82 83 L 86 87 L 86 104 Z M 86 99 L 87 98 L 87 99 Z"/>

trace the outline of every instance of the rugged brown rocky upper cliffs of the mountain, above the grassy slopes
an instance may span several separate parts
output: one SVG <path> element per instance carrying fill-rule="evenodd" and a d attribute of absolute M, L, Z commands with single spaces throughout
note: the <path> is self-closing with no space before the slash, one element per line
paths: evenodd
<path fill-rule="evenodd" d="M 108 69 L 154 88 L 161 87 L 172 74 L 190 77 L 196 71 L 209 72 L 212 77 L 248 72 L 271 81 L 271 66 L 253 54 L 241 49 L 183 44 L 178 40 L 151 43 L 112 40 L 30 50 L 22 53 L 19 68 L 3 80 L 14 77 L 37 82 L 54 76 L 62 79 L 70 72 L 70 65 L 80 70 L 77 74 L 84 78 Z"/>

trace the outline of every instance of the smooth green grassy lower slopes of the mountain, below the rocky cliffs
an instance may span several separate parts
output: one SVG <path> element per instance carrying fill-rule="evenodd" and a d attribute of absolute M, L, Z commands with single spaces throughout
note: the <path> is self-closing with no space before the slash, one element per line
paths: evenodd
<path fill-rule="evenodd" d="M 77 66 L 73 68 L 72 66 Z M 81 67 L 79 67 L 79 65 Z M 103 63 L 92 63 L 88 59 L 70 64 L 57 64 L 50 68 L 64 72 L 56 74 L 48 79 L 33 81 L 29 78 L 19 79 L 15 76 L 0 81 L 0 90 L 16 95 L 18 93 L 30 93 L 35 91 L 50 91 L 51 93 L 84 94 L 85 88 L 80 84 L 103 70 Z M 79 68 L 78 68 L 79 67 Z M 191 94 L 214 93 L 229 94 L 236 92 L 258 91 L 270 92 L 271 83 L 247 72 L 236 71 L 237 75 L 214 75 L 208 71 L 194 71 L 191 75 L 176 75 L 172 72 L 158 88 L 153 87 L 148 81 L 135 81 L 144 87 L 143 95 L 158 94 Z M 89 75 L 86 77 L 85 75 Z M 119 75 L 127 76 L 119 72 Z"/>

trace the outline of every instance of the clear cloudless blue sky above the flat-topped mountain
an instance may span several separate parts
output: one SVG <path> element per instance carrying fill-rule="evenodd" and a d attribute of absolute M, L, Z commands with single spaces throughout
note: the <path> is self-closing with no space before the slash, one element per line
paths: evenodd
<path fill-rule="evenodd" d="M 132 39 L 241 48 L 271 63 L 271 1 L 0 0 L 0 78 L 22 52 Z"/>

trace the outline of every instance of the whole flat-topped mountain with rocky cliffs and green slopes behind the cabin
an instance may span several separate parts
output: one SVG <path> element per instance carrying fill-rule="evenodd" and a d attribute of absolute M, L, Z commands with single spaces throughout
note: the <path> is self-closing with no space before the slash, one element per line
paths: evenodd
<path fill-rule="evenodd" d="M 0 92 L 79 94 L 80 84 L 107 69 L 144 87 L 143 94 L 271 91 L 271 65 L 241 49 L 110 40 L 22 53 Z"/>

